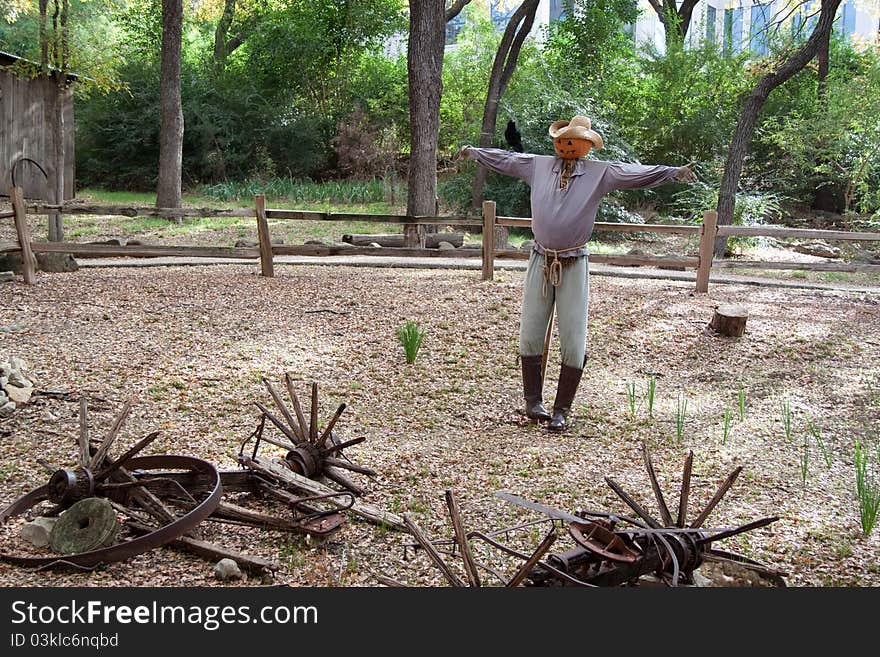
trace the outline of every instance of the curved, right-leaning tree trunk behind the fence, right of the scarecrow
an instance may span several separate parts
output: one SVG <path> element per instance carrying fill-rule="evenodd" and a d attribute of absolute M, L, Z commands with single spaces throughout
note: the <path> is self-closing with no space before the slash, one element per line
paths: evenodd
<path fill-rule="evenodd" d="M 727 161 L 724 165 L 724 176 L 721 179 L 721 188 L 718 192 L 719 226 L 729 226 L 733 223 L 736 191 L 739 187 L 740 175 L 742 175 L 743 159 L 748 151 L 749 141 L 752 138 L 752 132 L 764 102 L 771 91 L 787 82 L 816 56 L 822 41 L 827 40 L 831 33 L 834 15 L 837 13 L 840 3 L 841 0 L 822 0 L 819 20 L 807 42 L 789 59 L 758 80 L 752 93 L 746 99 L 739 121 L 733 131 Z M 715 240 L 716 257 L 723 255 L 726 250 L 727 238 L 717 238 Z"/>

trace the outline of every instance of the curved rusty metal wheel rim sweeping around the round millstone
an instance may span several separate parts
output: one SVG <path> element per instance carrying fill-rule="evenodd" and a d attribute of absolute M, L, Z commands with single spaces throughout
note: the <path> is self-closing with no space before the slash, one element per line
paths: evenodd
<path fill-rule="evenodd" d="M 19 566 L 31 566 L 36 568 L 52 568 L 55 566 L 71 565 L 79 566 L 81 568 L 94 568 L 104 563 L 123 561 L 138 554 L 143 554 L 153 548 L 165 545 L 166 543 L 170 543 L 176 538 L 183 536 L 210 516 L 220 503 L 220 498 L 223 494 L 223 487 L 220 484 L 220 474 L 217 472 L 217 468 L 207 461 L 193 458 L 191 456 L 167 454 L 133 458 L 129 460 L 129 466 L 133 469 L 137 468 L 140 472 L 164 469 L 187 470 L 196 475 L 207 477 L 210 482 L 210 492 L 192 511 L 176 518 L 173 522 L 162 525 L 154 531 L 137 538 L 132 538 L 109 547 L 83 552 L 81 554 L 52 557 L 22 557 L 0 553 L 0 560 Z M 14 506 L 19 509 L 19 513 L 24 513 L 27 508 L 30 508 L 24 508 L 24 505 L 22 504 L 28 495 L 25 495 L 14 502 L 10 508 Z M 32 499 L 36 499 L 36 496 Z M 37 500 L 36 503 L 39 503 L 40 501 L 42 500 Z M 7 511 L 8 510 L 9 509 L 7 509 Z"/>

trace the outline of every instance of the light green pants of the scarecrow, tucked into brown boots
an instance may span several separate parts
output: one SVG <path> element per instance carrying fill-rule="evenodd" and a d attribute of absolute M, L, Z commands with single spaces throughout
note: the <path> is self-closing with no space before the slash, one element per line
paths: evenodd
<path fill-rule="evenodd" d="M 590 302 L 590 271 L 587 256 L 566 260 L 558 287 L 550 282 L 544 295 L 544 256 L 532 251 L 523 288 L 519 325 L 519 353 L 538 356 L 544 352 L 547 324 L 556 304 L 557 331 L 562 364 L 582 369 L 587 346 L 587 313 Z"/>

